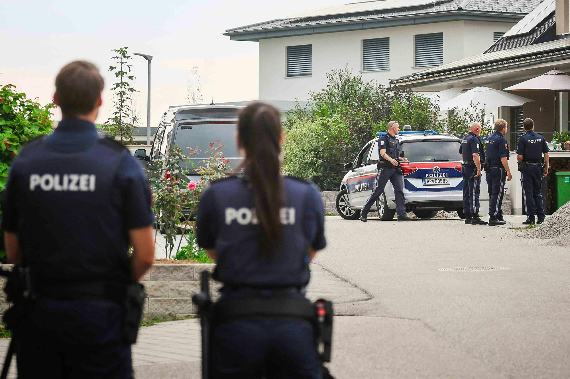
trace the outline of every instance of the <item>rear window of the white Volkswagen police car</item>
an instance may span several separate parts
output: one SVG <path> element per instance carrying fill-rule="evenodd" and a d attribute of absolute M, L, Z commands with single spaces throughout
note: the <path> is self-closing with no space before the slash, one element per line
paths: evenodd
<path fill-rule="evenodd" d="M 410 162 L 445 162 L 461 160 L 458 141 L 402 142 L 402 151 Z"/>

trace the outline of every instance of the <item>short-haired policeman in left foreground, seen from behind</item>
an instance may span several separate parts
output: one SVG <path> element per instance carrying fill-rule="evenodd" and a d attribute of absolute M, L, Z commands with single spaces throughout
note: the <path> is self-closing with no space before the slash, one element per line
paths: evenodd
<path fill-rule="evenodd" d="M 63 120 L 22 147 L 7 180 L 6 254 L 35 298 L 14 331 L 19 378 L 132 377 L 125 304 L 154 259 L 153 215 L 140 163 L 97 134 L 101 90 L 91 63 L 63 67 Z"/>

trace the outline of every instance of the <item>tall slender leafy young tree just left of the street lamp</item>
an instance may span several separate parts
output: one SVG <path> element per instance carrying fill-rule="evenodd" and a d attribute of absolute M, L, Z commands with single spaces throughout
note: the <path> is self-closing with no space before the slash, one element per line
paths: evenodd
<path fill-rule="evenodd" d="M 136 120 L 133 120 L 133 114 L 131 113 L 131 93 L 136 92 L 132 88 L 132 81 L 135 79 L 135 76 L 131 75 L 132 65 L 129 64 L 129 61 L 132 60 L 132 57 L 129 56 L 128 47 L 125 46 L 111 51 L 117 54 L 117 56 L 113 57 L 117 65 L 109 66 L 109 71 L 115 72 L 115 77 L 119 81 L 114 83 L 111 88 L 111 91 L 115 92 L 115 100 L 113 100 L 115 112 L 113 112 L 113 117 L 109 118 L 102 127 L 111 137 L 119 137 L 121 143 L 125 145 L 133 141 L 133 132 L 136 128 Z"/>

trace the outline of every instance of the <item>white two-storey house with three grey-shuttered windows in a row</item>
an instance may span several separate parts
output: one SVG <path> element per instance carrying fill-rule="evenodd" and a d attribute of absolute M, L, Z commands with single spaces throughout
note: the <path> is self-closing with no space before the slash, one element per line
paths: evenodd
<path fill-rule="evenodd" d="M 325 73 L 348 65 L 388 85 L 482 53 L 540 0 L 376 0 L 227 30 L 259 42 L 259 98 L 307 100 Z"/>

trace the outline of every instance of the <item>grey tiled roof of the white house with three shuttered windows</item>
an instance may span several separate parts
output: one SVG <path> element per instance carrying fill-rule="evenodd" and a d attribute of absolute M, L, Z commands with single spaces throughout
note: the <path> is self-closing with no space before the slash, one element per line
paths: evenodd
<path fill-rule="evenodd" d="M 265 31 L 271 29 L 319 26 L 342 22 L 358 22 L 364 20 L 383 20 L 394 17 L 420 16 L 432 13 L 463 11 L 466 13 L 503 13 L 524 15 L 532 11 L 540 0 L 449 0 L 436 1 L 429 5 L 410 6 L 396 9 L 371 10 L 358 13 L 320 15 L 316 17 L 300 17 L 271 20 L 253 25 L 226 30 L 227 35 L 241 32 Z"/>

